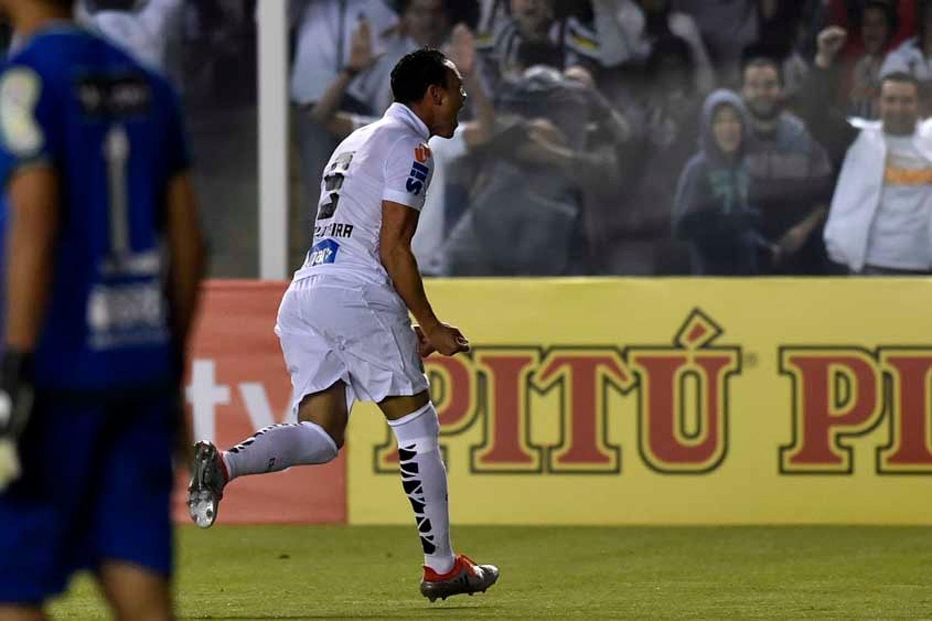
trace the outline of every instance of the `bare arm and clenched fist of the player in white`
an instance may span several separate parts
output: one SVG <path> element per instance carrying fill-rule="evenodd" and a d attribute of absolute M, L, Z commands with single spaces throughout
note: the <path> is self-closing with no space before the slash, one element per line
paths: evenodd
<path fill-rule="evenodd" d="M 431 302 L 424 291 L 424 283 L 418 271 L 418 261 L 411 252 L 411 240 L 418 228 L 418 212 L 391 200 L 382 201 L 382 227 L 379 231 L 379 257 L 391 277 L 395 290 L 411 314 L 420 324 L 427 343 L 422 342 L 421 354 L 429 351 L 429 344 L 436 352 L 452 356 L 469 351 L 469 341 L 449 324 L 441 322 L 433 312 Z"/>

